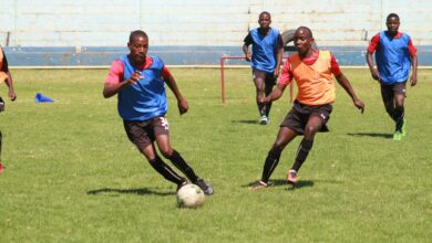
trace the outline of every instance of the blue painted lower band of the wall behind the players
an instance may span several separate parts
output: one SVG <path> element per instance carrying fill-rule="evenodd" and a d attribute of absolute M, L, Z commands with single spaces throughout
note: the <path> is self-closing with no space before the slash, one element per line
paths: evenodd
<path fill-rule="evenodd" d="M 419 65 L 432 65 L 432 46 L 416 46 Z M 366 66 L 366 46 L 320 46 L 330 50 L 340 65 Z M 4 47 L 10 66 L 107 66 L 127 47 Z M 150 55 L 167 65 L 218 65 L 222 55 L 243 55 L 241 46 L 152 46 Z M 287 53 L 289 54 L 289 53 Z M 227 65 L 247 65 L 227 60 Z"/>

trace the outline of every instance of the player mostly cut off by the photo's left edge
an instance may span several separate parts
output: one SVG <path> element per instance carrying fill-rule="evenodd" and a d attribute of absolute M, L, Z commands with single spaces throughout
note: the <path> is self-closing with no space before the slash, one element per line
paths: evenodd
<path fill-rule="evenodd" d="M 4 82 L 6 85 L 9 88 L 8 96 L 10 101 L 16 101 L 17 95 L 16 92 L 13 91 L 13 81 L 12 81 L 12 75 L 9 72 L 9 66 L 8 66 L 8 60 L 6 59 L 3 49 L 0 45 L 0 83 Z M 0 112 L 4 109 L 4 102 L 0 97 Z M 3 172 L 3 165 L 1 163 L 1 146 L 2 146 L 2 140 L 3 136 L 0 131 L 0 173 Z"/>

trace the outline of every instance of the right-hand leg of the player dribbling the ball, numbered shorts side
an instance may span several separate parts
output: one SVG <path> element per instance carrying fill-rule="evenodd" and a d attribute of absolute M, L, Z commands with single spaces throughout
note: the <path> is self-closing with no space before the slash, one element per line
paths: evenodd
<path fill-rule="evenodd" d="M 169 142 L 168 122 L 165 117 L 156 117 L 152 119 L 152 127 L 155 133 L 155 140 L 161 154 L 169 159 L 171 162 L 177 167 L 193 183 L 203 189 L 204 193 L 213 194 L 213 187 L 204 179 L 196 176 L 194 169 L 186 162 L 186 160 L 176 151 Z"/>

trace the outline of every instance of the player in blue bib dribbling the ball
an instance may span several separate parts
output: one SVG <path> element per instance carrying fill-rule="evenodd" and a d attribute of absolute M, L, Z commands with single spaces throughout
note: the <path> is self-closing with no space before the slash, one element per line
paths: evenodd
<path fill-rule="evenodd" d="M 161 159 L 154 141 L 160 152 L 193 183 L 202 188 L 204 193 L 213 194 L 213 187 L 198 178 L 169 144 L 169 126 L 165 118 L 168 108 L 165 83 L 177 99 L 179 114 L 188 109 L 173 75 L 161 59 L 147 55 L 148 36 L 144 31 L 133 31 L 127 47 L 128 55 L 123 55 L 112 63 L 104 83 L 103 96 L 109 98 L 117 94 L 117 109 L 128 139 L 158 173 L 177 184 L 177 190 L 186 183 L 185 178 Z"/>

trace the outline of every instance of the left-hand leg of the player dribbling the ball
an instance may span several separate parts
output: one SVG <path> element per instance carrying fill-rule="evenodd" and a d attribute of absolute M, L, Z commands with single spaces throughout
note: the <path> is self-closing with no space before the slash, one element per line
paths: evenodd
<path fill-rule="evenodd" d="M 145 156 L 153 169 L 166 180 L 177 184 L 177 189 L 186 182 L 185 178 L 178 176 L 178 173 L 157 156 L 153 146 L 154 136 L 151 129 L 148 129 L 148 123 L 125 120 L 123 124 L 128 139 Z"/>

